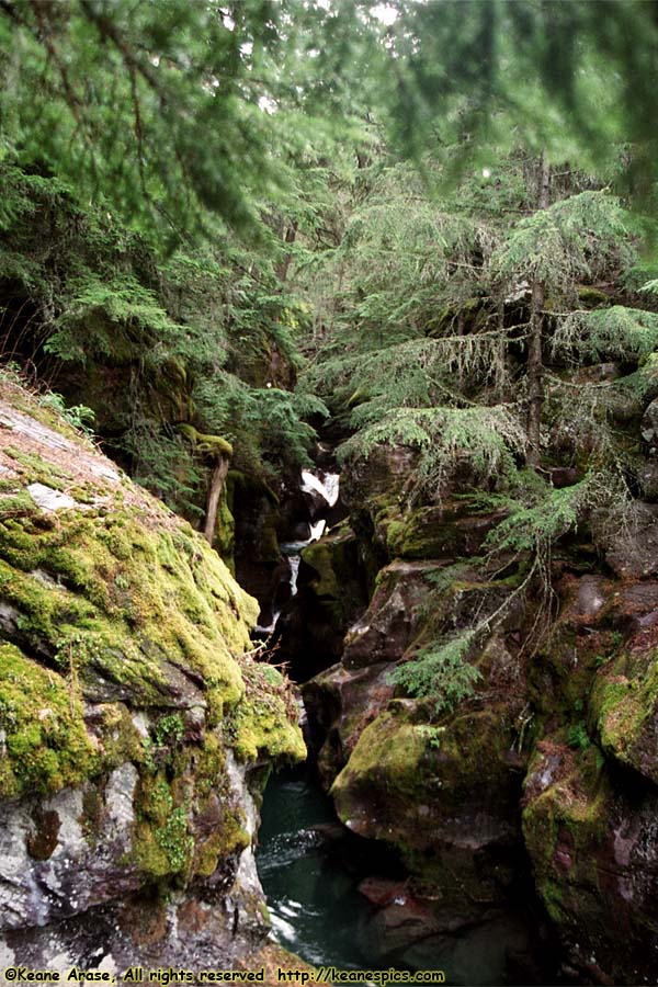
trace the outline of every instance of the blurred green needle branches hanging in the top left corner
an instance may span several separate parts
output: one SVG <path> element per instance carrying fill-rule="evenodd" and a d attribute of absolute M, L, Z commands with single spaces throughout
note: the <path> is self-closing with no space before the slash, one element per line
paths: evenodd
<path fill-rule="evenodd" d="M 253 229 L 258 197 L 329 129 L 332 100 L 318 120 L 299 84 L 336 37 L 315 4 L 15 0 L 1 14 L 3 156 L 47 162 L 170 242 L 216 236 L 213 213 Z"/>

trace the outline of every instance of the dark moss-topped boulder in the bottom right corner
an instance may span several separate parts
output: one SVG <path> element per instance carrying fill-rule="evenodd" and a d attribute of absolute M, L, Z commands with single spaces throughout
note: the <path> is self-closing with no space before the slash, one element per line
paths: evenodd
<path fill-rule="evenodd" d="M 525 782 L 536 887 L 580 977 L 655 983 L 658 795 L 625 785 L 590 745 L 545 737 Z"/>

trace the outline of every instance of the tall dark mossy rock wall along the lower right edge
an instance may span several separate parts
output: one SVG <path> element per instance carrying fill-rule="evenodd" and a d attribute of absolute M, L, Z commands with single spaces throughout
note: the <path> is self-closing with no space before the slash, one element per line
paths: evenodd
<path fill-rule="evenodd" d="M 656 979 L 657 592 L 574 580 L 532 673 L 547 733 L 524 782 L 524 840 L 570 965 L 594 983 Z"/>

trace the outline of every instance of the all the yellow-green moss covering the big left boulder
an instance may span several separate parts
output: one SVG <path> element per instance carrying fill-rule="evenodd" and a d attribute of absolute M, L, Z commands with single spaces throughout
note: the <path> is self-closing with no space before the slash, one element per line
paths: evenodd
<path fill-rule="evenodd" d="M 305 756 L 283 678 L 242 657 L 258 604 L 198 534 L 127 479 L 100 484 L 103 503 L 90 510 L 29 504 L 25 478 L 54 486 L 57 473 L 35 450 L 21 452 L 24 476 L 0 494 L 2 634 L 12 642 L 0 645 L 0 796 L 76 785 L 93 840 L 103 782 L 132 762 L 133 864 L 163 887 L 193 867 L 209 874 L 249 841 L 231 807 L 229 744 L 251 760 Z M 92 501 L 95 480 L 76 483 Z M 205 714 L 194 730 L 189 707 Z M 150 737 L 131 711 L 148 714 Z M 196 832 L 204 799 L 220 818 Z M 44 856 L 52 843 L 45 825 L 33 850 Z"/>

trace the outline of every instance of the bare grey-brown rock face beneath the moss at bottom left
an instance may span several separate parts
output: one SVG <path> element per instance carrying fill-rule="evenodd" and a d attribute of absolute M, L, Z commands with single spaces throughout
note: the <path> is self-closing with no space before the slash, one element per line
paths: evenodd
<path fill-rule="evenodd" d="M 213 965 L 217 956 L 230 965 L 262 941 L 266 922 L 250 847 L 226 856 L 208 877 L 166 897 L 144 885 L 137 867 L 126 866 L 136 822 L 132 798 L 137 775 L 131 767 L 111 779 L 98 843 L 89 842 L 79 822 L 89 786 L 83 794 L 66 790 L 49 801 L 61 836 L 48 861 L 39 864 L 25 853 L 32 806 L 10 814 L 0 873 L 0 915 L 9 916 L 0 934 L 5 964 L 61 972 L 73 965 L 112 973 L 133 965 L 198 968 Z M 254 822 L 242 769 L 234 784 L 232 795 Z M 246 833 L 247 840 L 249 822 Z"/>

